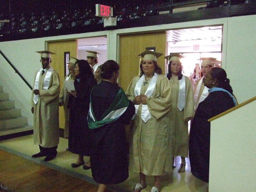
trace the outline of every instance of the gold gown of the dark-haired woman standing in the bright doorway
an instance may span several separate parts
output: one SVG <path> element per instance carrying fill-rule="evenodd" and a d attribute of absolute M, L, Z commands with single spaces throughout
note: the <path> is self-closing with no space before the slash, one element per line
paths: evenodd
<path fill-rule="evenodd" d="M 170 127 L 174 129 L 173 157 L 188 157 L 188 117 L 194 116 L 194 95 L 189 77 L 184 76 L 186 84 L 185 108 L 180 111 L 177 107 L 180 83 L 178 76 L 169 80 L 172 88 L 172 108 L 170 113 Z"/>

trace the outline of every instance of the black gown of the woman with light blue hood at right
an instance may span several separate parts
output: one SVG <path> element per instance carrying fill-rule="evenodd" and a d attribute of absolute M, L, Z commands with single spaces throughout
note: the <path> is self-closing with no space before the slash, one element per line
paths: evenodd
<path fill-rule="evenodd" d="M 215 91 L 199 103 L 196 109 L 189 133 L 189 161 L 192 174 L 205 182 L 209 182 L 210 122 L 208 119 L 232 107 L 235 107 L 235 104 L 227 92 Z"/>

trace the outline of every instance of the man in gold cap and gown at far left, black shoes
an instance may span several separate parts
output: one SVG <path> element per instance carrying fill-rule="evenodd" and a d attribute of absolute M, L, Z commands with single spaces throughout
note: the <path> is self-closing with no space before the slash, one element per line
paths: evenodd
<path fill-rule="evenodd" d="M 36 72 L 31 112 L 34 114 L 34 144 L 39 145 L 40 152 L 32 157 L 46 156 L 44 161 L 50 161 L 57 155 L 59 144 L 60 77 L 50 67 L 52 52 L 39 53 L 43 68 Z"/>

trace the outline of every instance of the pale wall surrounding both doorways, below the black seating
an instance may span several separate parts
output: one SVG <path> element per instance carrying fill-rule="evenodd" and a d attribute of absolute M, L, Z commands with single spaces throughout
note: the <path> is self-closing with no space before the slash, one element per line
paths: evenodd
<path fill-rule="evenodd" d="M 138 27 L 119 29 L 112 31 L 101 31 L 92 33 L 81 33 L 74 35 L 63 35 L 44 37 L 38 39 L 26 39 L 19 41 L 0 42 L 0 50 L 20 71 L 25 79 L 33 85 L 35 71 L 41 68 L 40 55 L 36 51 L 47 48 L 48 41 L 65 39 L 107 36 L 107 60 L 119 62 L 119 35 L 146 31 L 163 31 L 178 28 L 190 28 L 207 25 L 223 25 L 222 44 L 222 67 L 227 71 L 228 78 L 239 103 L 248 100 L 256 95 L 252 89 L 256 82 L 254 62 L 256 60 L 256 15 L 240 16 L 233 18 L 221 18 L 213 20 L 199 20 L 191 22 L 173 23 L 151 27 Z M 127 61 L 129 65 L 129 61 Z M 0 80 L 6 84 L 19 103 L 23 103 L 24 111 L 30 114 L 31 91 L 22 82 L 20 77 L 14 75 L 13 69 L 0 56 Z M 122 75 L 122 74 L 120 74 Z M 250 78 L 248 78 L 250 77 Z"/>

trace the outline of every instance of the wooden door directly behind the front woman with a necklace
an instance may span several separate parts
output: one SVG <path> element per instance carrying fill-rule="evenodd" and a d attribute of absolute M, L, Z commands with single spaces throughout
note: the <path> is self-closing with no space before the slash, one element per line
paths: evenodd
<path fill-rule="evenodd" d="M 126 91 L 133 77 L 139 74 L 141 52 L 146 47 L 156 47 L 156 52 L 163 53 L 157 58 L 158 65 L 162 68 L 164 74 L 164 66 L 166 56 L 166 33 L 154 32 L 133 35 L 123 35 L 120 37 L 120 85 Z"/>

